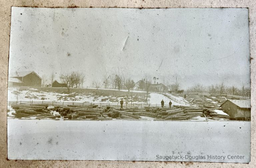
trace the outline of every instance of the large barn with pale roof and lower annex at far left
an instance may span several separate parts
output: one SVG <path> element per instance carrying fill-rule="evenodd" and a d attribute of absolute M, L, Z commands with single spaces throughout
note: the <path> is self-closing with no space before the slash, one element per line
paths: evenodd
<path fill-rule="evenodd" d="M 41 86 L 42 78 L 34 71 L 14 72 L 8 75 L 8 86 Z"/>

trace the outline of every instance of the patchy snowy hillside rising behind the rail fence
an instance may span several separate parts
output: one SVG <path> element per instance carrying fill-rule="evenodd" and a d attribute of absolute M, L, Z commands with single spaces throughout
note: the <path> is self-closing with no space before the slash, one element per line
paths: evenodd
<path fill-rule="evenodd" d="M 169 99 L 167 96 L 159 93 L 150 93 L 148 101 L 146 101 L 145 92 L 128 92 L 128 90 L 116 91 L 106 89 L 80 89 L 79 91 L 71 91 L 66 93 L 64 88 L 59 90 L 44 90 L 35 88 L 8 88 L 8 101 L 56 101 L 56 102 L 77 102 L 77 103 L 117 103 L 121 98 L 130 103 L 143 103 L 143 104 L 161 104 L 163 99 L 165 105 L 169 105 Z M 51 88 L 49 88 L 51 89 Z M 63 91 L 64 90 L 64 91 Z M 96 92 L 97 91 L 97 92 Z M 111 92 L 107 93 L 107 92 Z M 179 97 L 175 97 L 179 99 Z M 172 105 L 184 105 L 184 102 L 177 103 L 172 101 Z"/>

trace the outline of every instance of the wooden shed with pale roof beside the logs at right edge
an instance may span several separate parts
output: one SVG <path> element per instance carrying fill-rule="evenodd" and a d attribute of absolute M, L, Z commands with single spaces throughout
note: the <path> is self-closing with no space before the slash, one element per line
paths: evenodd
<path fill-rule="evenodd" d="M 251 100 L 228 99 L 220 107 L 233 120 L 251 120 Z"/>

